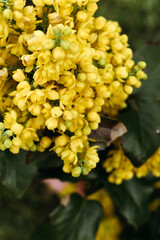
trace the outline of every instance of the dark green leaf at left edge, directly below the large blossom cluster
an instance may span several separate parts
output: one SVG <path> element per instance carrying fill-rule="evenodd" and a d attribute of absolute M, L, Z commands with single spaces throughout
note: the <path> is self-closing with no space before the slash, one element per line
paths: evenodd
<path fill-rule="evenodd" d="M 36 173 L 36 166 L 26 163 L 27 152 L 12 154 L 0 152 L 0 178 L 3 185 L 17 198 L 21 198 Z"/>

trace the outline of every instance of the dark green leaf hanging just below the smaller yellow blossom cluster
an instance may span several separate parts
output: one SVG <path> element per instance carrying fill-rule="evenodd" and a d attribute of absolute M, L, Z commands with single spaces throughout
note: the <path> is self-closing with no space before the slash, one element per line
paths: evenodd
<path fill-rule="evenodd" d="M 153 188 L 148 182 L 135 178 L 119 186 L 107 182 L 104 182 L 104 185 L 130 224 L 138 228 L 148 221 L 149 203 L 153 193 Z"/>

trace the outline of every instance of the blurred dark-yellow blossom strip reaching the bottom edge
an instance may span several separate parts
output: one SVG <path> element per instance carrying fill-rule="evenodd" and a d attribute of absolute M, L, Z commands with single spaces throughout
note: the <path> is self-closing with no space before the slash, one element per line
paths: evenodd
<path fill-rule="evenodd" d="M 101 189 L 91 194 L 88 199 L 98 201 L 104 212 L 95 240 L 118 240 L 122 226 L 115 214 L 114 204 L 108 193 Z"/>

